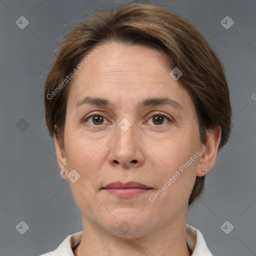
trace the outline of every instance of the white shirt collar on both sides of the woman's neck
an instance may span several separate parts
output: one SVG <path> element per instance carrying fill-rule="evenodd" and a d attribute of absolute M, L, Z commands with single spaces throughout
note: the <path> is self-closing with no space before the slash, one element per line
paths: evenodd
<path fill-rule="evenodd" d="M 186 224 L 185 232 L 187 247 L 192 252 L 191 256 L 212 256 L 198 229 Z M 76 248 L 79 245 L 81 238 L 82 231 L 69 234 L 55 250 L 40 256 L 74 256 L 72 248 Z"/>

